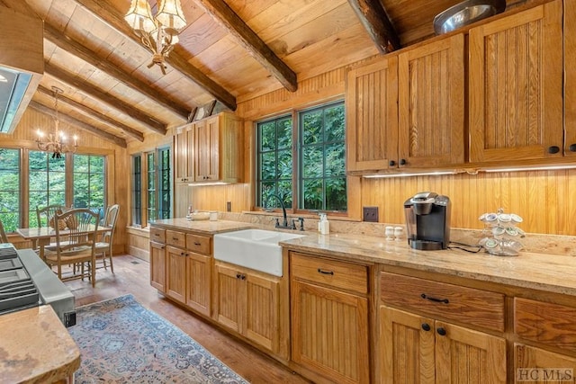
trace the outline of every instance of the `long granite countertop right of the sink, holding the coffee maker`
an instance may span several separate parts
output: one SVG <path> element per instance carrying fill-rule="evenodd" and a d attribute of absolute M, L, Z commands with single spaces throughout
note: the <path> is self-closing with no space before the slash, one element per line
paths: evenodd
<path fill-rule="evenodd" d="M 518 256 L 494 256 L 461 249 L 420 251 L 410 248 L 405 240 L 347 234 L 310 234 L 281 245 L 348 261 L 382 263 L 576 296 L 576 259 L 567 255 L 520 252 Z"/>

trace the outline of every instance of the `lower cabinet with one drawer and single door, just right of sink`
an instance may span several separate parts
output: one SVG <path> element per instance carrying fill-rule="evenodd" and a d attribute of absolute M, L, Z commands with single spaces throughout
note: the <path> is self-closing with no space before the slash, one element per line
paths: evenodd
<path fill-rule="evenodd" d="M 370 381 L 367 270 L 291 255 L 292 360 L 326 382 Z"/>

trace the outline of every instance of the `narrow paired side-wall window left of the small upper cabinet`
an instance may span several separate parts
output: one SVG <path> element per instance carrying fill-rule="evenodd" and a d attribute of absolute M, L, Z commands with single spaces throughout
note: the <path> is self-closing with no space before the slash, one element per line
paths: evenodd
<path fill-rule="evenodd" d="M 146 186 L 145 191 L 142 190 L 143 185 Z M 170 147 L 132 156 L 132 225 L 141 226 L 155 219 L 171 217 Z"/>

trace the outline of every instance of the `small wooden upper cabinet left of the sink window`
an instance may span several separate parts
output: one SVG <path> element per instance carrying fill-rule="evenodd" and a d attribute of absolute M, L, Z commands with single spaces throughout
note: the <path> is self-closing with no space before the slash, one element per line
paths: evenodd
<path fill-rule="evenodd" d="M 242 122 L 233 114 L 195 121 L 176 130 L 175 183 L 238 183 L 243 175 Z"/>

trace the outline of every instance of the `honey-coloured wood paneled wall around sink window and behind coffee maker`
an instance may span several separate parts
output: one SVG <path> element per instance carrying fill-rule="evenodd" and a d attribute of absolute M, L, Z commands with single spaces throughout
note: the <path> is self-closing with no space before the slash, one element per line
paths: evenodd
<path fill-rule="evenodd" d="M 294 94 L 278 90 L 238 103 L 238 115 L 247 120 L 247 180 L 253 174 L 253 121 L 343 96 L 346 72 L 340 68 L 307 79 Z M 480 229 L 482 213 L 502 208 L 520 215 L 520 228 L 527 232 L 576 236 L 576 199 L 571 198 L 576 196 L 576 170 L 361 179 L 358 185 L 353 193 L 361 196 L 362 206 L 379 207 L 383 223 L 403 224 L 404 201 L 416 192 L 433 191 L 450 197 L 453 228 Z M 195 187 L 189 200 L 200 210 L 224 210 L 225 201 L 232 201 L 232 210 L 241 211 L 250 209 L 251 193 L 247 183 Z"/>

